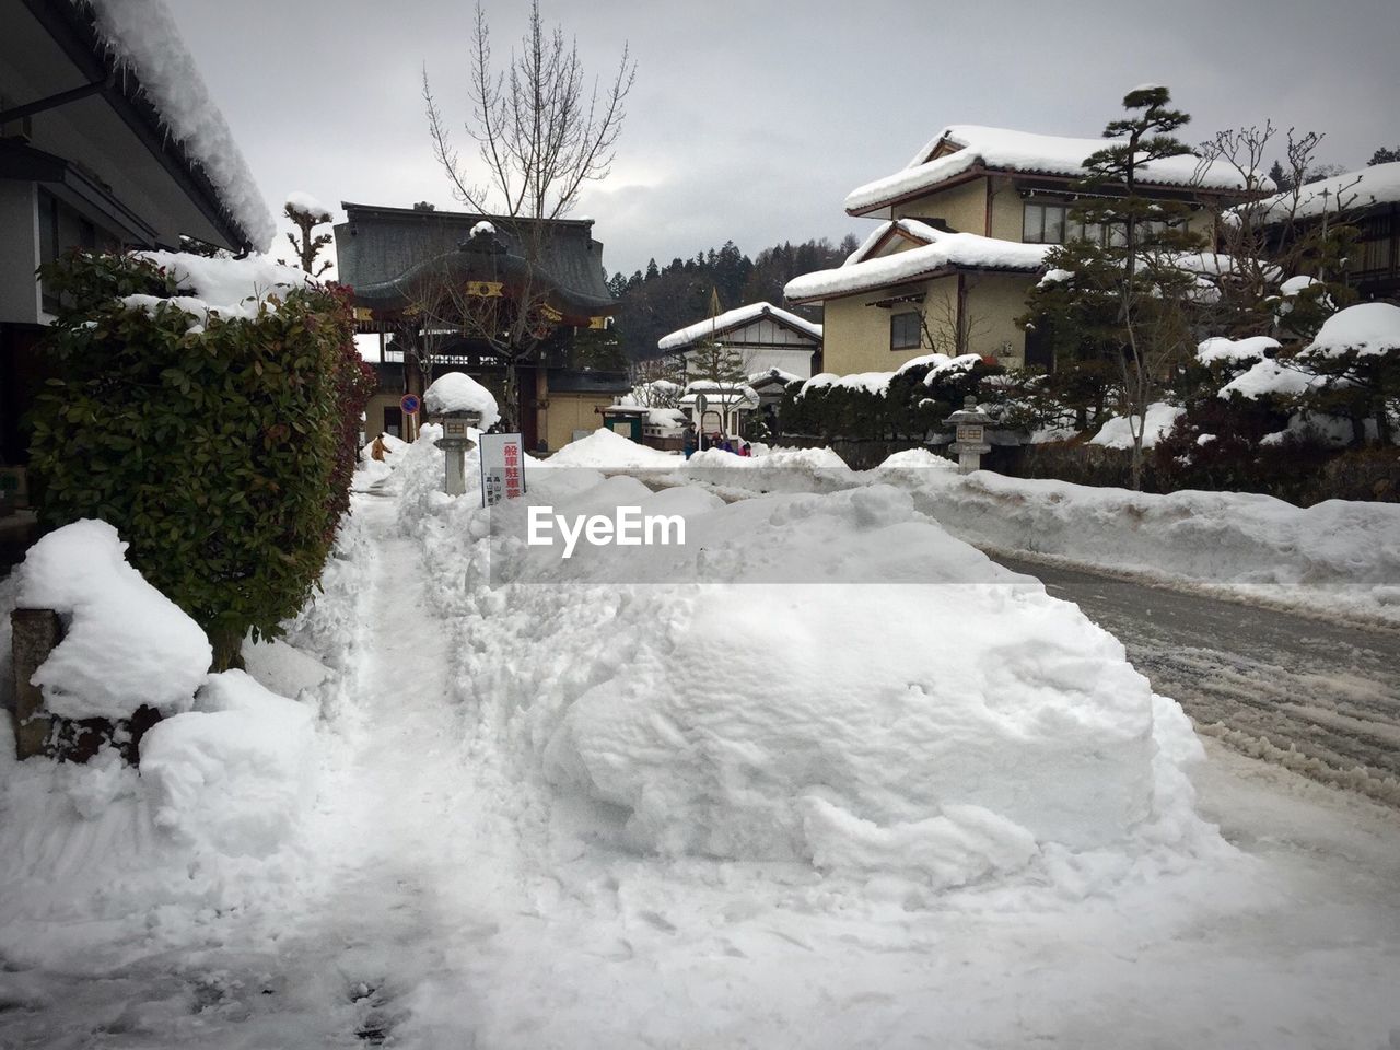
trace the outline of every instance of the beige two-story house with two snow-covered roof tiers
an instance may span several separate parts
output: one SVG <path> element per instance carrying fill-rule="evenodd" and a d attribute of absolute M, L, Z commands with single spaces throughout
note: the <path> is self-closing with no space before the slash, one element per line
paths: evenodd
<path fill-rule="evenodd" d="M 930 350 L 1053 367 L 1016 318 L 1053 245 L 1121 235 L 1070 218 L 1085 158 L 1112 141 L 953 125 L 903 169 L 853 190 L 847 214 L 879 227 L 844 265 L 784 290 L 792 304 L 823 305 L 826 370 L 890 371 Z M 1189 203 L 1246 195 L 1238 172 L 1190 155 L 1152 161 L 1140 183 Z M 1193 223 L 1211 213 L 1197 209 Z"/>

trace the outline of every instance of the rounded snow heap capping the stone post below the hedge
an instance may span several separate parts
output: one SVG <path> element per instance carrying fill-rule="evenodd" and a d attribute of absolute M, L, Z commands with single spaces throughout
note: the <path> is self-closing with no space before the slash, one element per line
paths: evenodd
<path fill-rule="evenodd" d="M 18 570 L 18 605 L 64 624 L 32 679 L 63 718 L 183 711 L 209 672 L 204 631 L 127 564 L 126 546 L 105 521 L 77 521 L 29 547 Z"/>

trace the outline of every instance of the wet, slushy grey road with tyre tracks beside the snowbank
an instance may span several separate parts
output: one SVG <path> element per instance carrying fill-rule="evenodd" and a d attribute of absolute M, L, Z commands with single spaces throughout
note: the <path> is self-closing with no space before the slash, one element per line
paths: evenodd
<path fill-rule="evenodd" d="M 1200 732 L 1400 806 L 1400 631 L 997 556 L 1113 631 Z"/>

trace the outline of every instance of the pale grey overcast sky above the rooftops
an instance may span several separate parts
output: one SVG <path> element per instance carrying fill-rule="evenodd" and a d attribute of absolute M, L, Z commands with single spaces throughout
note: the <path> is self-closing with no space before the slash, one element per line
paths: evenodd
<path fill-rule="evenodd" d="M 466 118 L 472 7 L 455 0 L 168 0 L 274 213 L 291 190 L 458 207 L 435 167 L 421 69 Z M 487 0 L 500 57 L 526 4 Z M 637 84 L 596 220 L 609 272 L 732 239 L 839 239 L 846 193 L 949 123 L 1096 136 L 1123 94 L 1166 84 L 1186 139 L 1261 123 L 1326 132 L 1320 160 L 1400 146 L 1396 0 L 545 0 L 589 73 L 623 42 Z M 472 143 L 459 137 L 463 155 Z M 1282 148 L 1277 151 L 1280 155 Z"/>

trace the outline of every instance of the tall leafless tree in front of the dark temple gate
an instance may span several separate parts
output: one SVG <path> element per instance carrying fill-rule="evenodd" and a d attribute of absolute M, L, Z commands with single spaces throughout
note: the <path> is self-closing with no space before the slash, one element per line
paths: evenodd
<path fill-rule="evenodd" d="M 472 28 L 472 77 L 466 133 L 477 143 L 473 176 L 452 146 L 447 120 L 423 70 L 433 153 L 461 203 L 483 216 L 512 220 L 473 231 L 469 252 L 476 252 L 482 281 L 449 290 L 427 291 L 424 308 L 461 326 L 462 335 L 479 339 L 505 364 L 505 426 L 519 424 L 518 365 L 536 353 L 559 322 L 549 304 L 549 273 L 554 220 L 564 218 L 587 182 L 608 176 L 615 146 L 626 116 L 626 99 L 636 78 L 636 63 L 623 45 L 616 74 L 601 87 L 588 83 L 578 45 L 560 27 L 546 29 L 539 3 L 531 3 L 529 25 L 519 48 L 504 67 L 491 57 L 490 27 L 480 4 Z M 480 178 L 477 182 L 476 178 Z M 498 237 L 500 235 L 500 237 Z M 503 241 L 524 265 L 505 267 Z M 493 266 L 498 267 L 491 269 Z M 498 277 L 498 280 L 497 280 Z M 508 290 L 503 294 L 503 290 Z"/>

